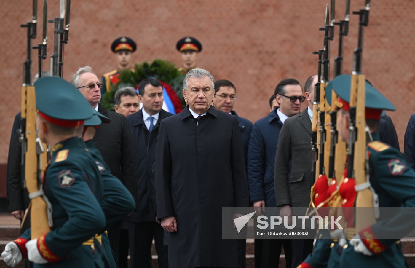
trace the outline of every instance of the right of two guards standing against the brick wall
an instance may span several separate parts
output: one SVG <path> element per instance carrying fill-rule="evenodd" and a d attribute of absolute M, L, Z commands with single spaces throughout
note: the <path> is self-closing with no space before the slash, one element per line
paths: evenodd
<path fill-rule="evenodd" d="M 198 54 L 202 51 L 202 44 L 194 37 L 183 37 L 176 44 L 176 49 L 181 53 L 183 66 L 178 70 L 186 74 L 188 71 L 198 68 L 196 60 Z"/>

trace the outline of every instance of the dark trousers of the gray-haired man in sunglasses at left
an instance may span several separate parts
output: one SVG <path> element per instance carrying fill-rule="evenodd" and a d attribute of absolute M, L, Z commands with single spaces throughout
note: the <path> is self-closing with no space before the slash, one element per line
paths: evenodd
<path fill-rule="evenodd" d="M 128 267 L 128 230 L 121 228 L 122 222 L 116 222 L 108 228 L 108 239 L 114 252 L 117 267 Z"/>

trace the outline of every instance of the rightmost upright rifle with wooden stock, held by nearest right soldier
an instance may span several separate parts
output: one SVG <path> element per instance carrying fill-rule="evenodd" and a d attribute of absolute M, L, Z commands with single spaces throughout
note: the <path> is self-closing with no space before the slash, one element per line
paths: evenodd
<path fill-rule="evenodd" d="M 362 73 L 361 60 L 363 51 L 363 31 L 369 23 L 370 0 L 365 1 L 365 8 L 353 14 L 359 15 L 358 44 L 354 49 L 353 71 L 350 88 L 349 110 L 349 153 L 347 161 L 347 177 L 356 182 L 356 207 L 374 207 L 372 188 L 364 186 L 369 178 L 366 153 L 366 118 L 365 118 L 365 76 Z M 376 222 L 375 210 L 364 217 L 356 214 L 356 232 Z"/>

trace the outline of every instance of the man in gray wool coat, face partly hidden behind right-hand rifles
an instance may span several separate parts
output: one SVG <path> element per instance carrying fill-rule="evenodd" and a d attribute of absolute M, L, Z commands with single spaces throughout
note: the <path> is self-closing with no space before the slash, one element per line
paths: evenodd
<path fill-rule="evenodd" d="M 291 219 L 291 207 L 308 207 L 311 176 L 311 119 L 314 86 L 317 76 L 305 82 L 305 97 L 308 107 L 303 112 L 288 118 L 278 139 L 274 166 L 274 190 L 280 216 Z M 312 251 L 312 240 L 292 239 L 292 267 L 297 267 Z"/>

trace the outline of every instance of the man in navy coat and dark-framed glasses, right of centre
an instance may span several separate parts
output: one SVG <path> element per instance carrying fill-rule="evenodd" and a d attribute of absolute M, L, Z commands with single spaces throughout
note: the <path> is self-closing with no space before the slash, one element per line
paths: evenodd
<path fill-rule="evenodd" d="M 254 124 L 248 148 L 249 198 L 254 207 L 276 207 L 274 193 L 274 164 L 278 136 L 285 119 L 300 112 L 304 102 L 303 89 L 293 79 L 283 79 L 276 86 L 275 108 L 268 116 Z M 293 101 L 294 100 L 294 101 Z M 262 254 L 256 267 L 271 267 L 279 263 L 281 246 L 284 246 L 286 267 L 291 267 L 291 243 L 289 240 L 269 239 L 262 241 Z"/>

